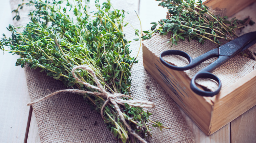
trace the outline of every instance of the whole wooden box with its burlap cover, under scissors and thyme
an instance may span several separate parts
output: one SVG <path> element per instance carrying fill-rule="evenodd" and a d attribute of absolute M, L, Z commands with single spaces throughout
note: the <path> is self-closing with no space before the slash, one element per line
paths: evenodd
<path fill-rule="evenodd" d="M 242 7 L 246 7 L 253 2 L 253 0 L 247 0 L 246 2 L 232 2 L 232 0 L 229 0 L 228 3 L 216 3 L 208 0 L 204 3 L 212 8 L 226 8 L 226 14 L 231 16 L 237 13 L 237 10 L 241 10 Z M 219 6 L 220 3 L 222 7 Z M 230 3 L 240 4 L 233 6 L 236 8 L 229 8 Z M 190 89 L 191 76 L 214 59 L 202 63 L 202 66 L 199 68 L 193 68 L 187 71 L 175 71 L 164 66 L 159 60 L 159 55 L 161 52 L 169 50 L 172 46 L 171 49 L 173 50 L 188 50 L 184 52 L 195 58 L 197 55 L 216 48 L 217 45 L 209 40 L 203 45 L 196 40 L 188 42 L 188 40 L 182 41 L 180 39 L 178 45 L 175 45 L 175 43 L 172 44 L 172 42 L 163 42 L 173 37 L 169 33 L 162 36 L 159 33 L 151 35 L 148 33 L 146 36 L 152 36 L 152 38 L 143 41 L 143 63 L 145 69 L 206 135 L 213 134 L 256 105 L 256 71 L 254 70 L 256 62 L 254 60 L 243 55 L 238 55 L 213 71 L 213 74 L 219 77 L 222 82 L 224 81 L 222 90 L 214 97 L 202 97 Z M 175 62 L 172 64 L 179 65 L 179 63 Z M 199 82 L 199 84 L 203 85 L 205 83 Z M 211 89 L 211 86 L 206 85 L 206 88 Z"/>

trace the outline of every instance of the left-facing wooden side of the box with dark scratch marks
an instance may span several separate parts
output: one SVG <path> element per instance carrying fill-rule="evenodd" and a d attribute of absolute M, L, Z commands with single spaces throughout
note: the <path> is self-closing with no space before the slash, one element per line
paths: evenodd
<path fill-rule="evenodd" d="M 144 68 L 161 87 L 184 110 L 188 116 L 208 135 L 212 104 L 207 98 L 196 95 L 189 87 L 190 80 L 183 71 L 166 68 L 146 46 L 142 46 Z"/>

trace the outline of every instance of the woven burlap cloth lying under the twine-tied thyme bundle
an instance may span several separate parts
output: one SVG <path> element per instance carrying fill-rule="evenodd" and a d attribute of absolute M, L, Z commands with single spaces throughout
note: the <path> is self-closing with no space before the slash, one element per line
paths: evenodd
<path fill-rule="evenodd" d="M 21 0 L 12 0 L 12 9 L 21 3 Z M 125 21 L 139 29 L 139 20 L 134 10 L 138 9 L 138 0 L 113 0 L 115 8 L 129 11 Z M 24 8 L 23 8 L 24 9 Z M 20 22 L 16 25 L 25 24 L 26 14 L 21 13 Z M 132 40 L 135 37 L 131 27 L 124 29 L 126 37 Z M 130 49 L 133 56 L 137 55 L 139 42 L 132 42 Z M 159 120 L 170 130 L 152 128 L 153 137 L 149 142 L 194 142 L 194 137 L 186 122 L 182 118 L 177 104 L 165 93 L 151 75 L 145 71 L 142 63 L 142 51 L 138 57 L 139 63 L 132 68 L 132 97 L 137 100 L 155 102 L 156 107 L 149 111 L 153 114 L 152 120 Z M 64 89 L 63 84 L 39 72 L 40 69 L 31 70 L 25 68 L 26 79 L 31 101 L 35 101 L 47 94 Z M 112 134 L 106 128 L 100 114 L 90 110 L 82 96 L 63 93 L 58 97 L 46 99 L 33 105 L 38 125 L 39 136 L 42 142 L 88 142 L 107 143 L 116 142 Z"/>

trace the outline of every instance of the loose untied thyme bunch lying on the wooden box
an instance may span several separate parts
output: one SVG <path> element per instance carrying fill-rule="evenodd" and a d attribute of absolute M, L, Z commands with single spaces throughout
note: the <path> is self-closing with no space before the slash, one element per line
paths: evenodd
<path fill-rule="evenodd" d="M 220 39 L 233 40 L 236 37 L 235 29 L 244 27 L 247 24 L 254 24 L 248 17 L 245 20 L 235 18 L 230 21 L 227 17 L 216 16 L 203 5 L 202 0 L 156 0 L 161 1 L 159 6 L 168 9 L 169 18 L 162 19 L 158 23 L 151 23 L 153 26 L 149 31 L 143 31 L 146 35 L 143 40 L 151 38 L 152 34 L 172 33 L 172 38 L 166 40 L 177 45 L 178 41 L 197 40 L 203 44 L 205 40 L 220 44 Z"/>

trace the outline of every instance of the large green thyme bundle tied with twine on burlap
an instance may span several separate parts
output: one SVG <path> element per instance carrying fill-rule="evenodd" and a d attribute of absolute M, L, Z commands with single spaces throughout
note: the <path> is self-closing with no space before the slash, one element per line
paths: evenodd
<path fill-rule="evenodd" d="M 130 41 L 122 32 L 123 26 L 128 24 L 123 21 L 125 11 L 113 8 L 110 0 L 102 6 L 96 0 L 94 14 L 88 14 L 89 0 L 38 0 L 20 4 L 13 11 L 16 20 L 20 19 L 19 9 L 25 5 L 34 6 L 29 14 L 31 22 L 20 27 L 10 25 L 8 30 L 12 36 L 4 35 L 0 48 L 20 55 L 16 66 L 28 64 L 31 69 L 41 68 L 72 89 L 103 92 L 82 95 L 102 113 L 104 122 L 118 140 L 133 142 L 138 138 L 145 142 L 142 138 L 151 136 L 146 125 L 151 121 L 151 114 L 143 111 L 140 103 L 129 104 L 132 98 L 123 96 L 131 95 L 130 70 L 132 64 L 138 62 L 129 55 Z M 137 35 L 138 31 L 135 29 Z M 5 49 L 6 46 L 10 50 Z M 73 69 L 75 66 L 81 68 Z M 108 97 L 115 94 L 122 95 L 118 100 L 127 102 L 117 105 L 118 102 Z M 160 122 L 153 123 L 154 127 L 162 128 Z"/>

